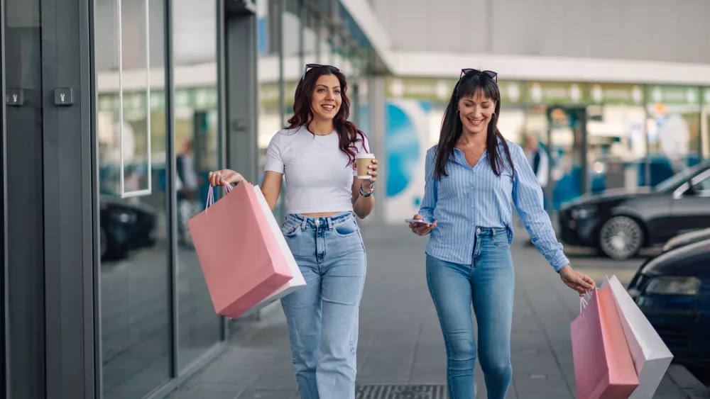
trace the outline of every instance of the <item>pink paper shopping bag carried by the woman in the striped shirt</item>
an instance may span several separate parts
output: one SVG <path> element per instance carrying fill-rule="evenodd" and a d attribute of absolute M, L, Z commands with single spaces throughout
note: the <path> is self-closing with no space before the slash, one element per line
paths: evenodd
<path fill-rule="evenodd" d="M 578 399 L 628 399 L 638 386 L 611 288 L 592 290 L 572 322 L 572 356 Z"/>

